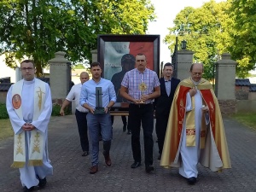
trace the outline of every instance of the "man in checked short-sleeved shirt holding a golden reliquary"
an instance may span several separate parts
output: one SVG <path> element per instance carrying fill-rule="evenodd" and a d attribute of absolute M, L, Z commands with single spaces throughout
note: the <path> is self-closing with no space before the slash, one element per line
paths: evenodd
<path fill-rule="evenodd" d="M 154 130 L 154 98 L 160 96 L 160 82 L 157 74 L 146 68 L 144 54 L 136 55 L 136 67 L 125 73 L 120 95 L 129 105 L 129 125 L 131 125 L 131 148 L 134 163 L 131 168 L 141 166 L 140 129 L 143 125 L 146 172 L 154 171 L 152 133 Z"/>

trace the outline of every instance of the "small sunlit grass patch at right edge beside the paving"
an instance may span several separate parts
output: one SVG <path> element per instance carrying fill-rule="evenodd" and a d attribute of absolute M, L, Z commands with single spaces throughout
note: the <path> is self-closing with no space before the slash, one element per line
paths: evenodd
<path fill-rule="evenodd" d="M 243 125 L 247 125 L 256 130 L 256 113 L 236 113 L 231 115 Z"/>

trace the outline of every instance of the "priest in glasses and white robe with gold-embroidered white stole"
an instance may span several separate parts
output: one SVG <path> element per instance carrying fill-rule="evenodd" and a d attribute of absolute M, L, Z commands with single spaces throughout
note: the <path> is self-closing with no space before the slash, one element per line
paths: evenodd
<path fill-rule="evenodd" d="M 20 63 L 23 79 L 7 94 L 6 108 L 15 132 L 14 163 L 20 170 L 24 191 L 43 188 L 46 176 L 53 174 L 48 155 L 48 124 L 52 111 L 49 84 L 35 79 L 31 60 Z"/>

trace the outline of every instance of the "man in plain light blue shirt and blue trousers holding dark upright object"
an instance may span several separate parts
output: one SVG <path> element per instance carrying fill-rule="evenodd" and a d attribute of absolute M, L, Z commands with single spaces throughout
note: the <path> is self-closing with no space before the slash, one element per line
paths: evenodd
<path fill-rule="evenodd" d="M 86 116 L 90 137 L 91 164 L 90 174 L 98 171 L 99 154 L 99 129 L 101 127 L 103 140 L 103 155 L 107 166 L 111 166 L 110 147 L 112 140 L 112 124 L 109 109 L 116 102 L 116 95 L 113 84 L 108 79 L 102 79 L 102 68 L 99 62 L 90 65 L 92 79 L 85 82 L 82 86 L 80 105 L 89 110 Z M 96 108 L 96 87 L 102 87 L 102 107 L 105 113 L 94 113 Z"/>

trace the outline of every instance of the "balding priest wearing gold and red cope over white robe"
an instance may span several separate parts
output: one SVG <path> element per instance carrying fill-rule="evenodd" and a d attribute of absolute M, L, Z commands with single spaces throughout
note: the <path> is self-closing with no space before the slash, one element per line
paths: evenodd
<path fill-rule="evenodd" d="M 173 98 L 160 166 L 179 167 L 179 174 L 195 184 L 198 162 L 213 172 L 231 164 L 212 84 L 201 78 L 201 63 L 193 64 L 190 73 L 189 79 L 178 84 Z"/>

